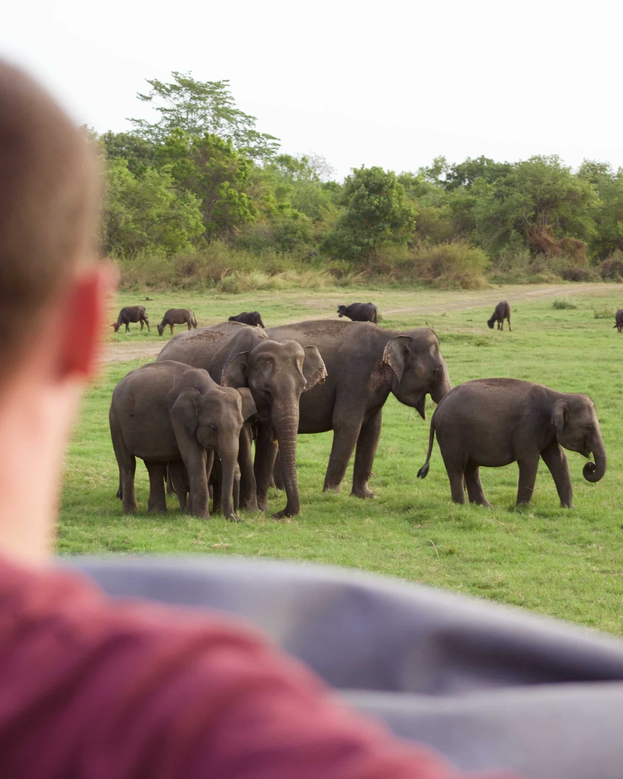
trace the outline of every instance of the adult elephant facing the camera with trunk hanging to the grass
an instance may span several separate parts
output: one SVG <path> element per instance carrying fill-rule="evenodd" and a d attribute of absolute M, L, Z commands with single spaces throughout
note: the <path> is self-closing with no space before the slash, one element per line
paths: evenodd
<path fill-rule="evenodd" d="M 271 340 L 264 330 L 225 322 L 180 333 L 157 361 L 177 360 L 205 368 L 214 381 L 234 388 L 248 387 L 257 407 L 255 467 L 251 425 L 241 432 L 241 506 L 265 511 L 278 442 L 281 452 L 286 507 L 273 516 L 294 516 L 301 510 L 296 453 L 299 399 L 326 379 L 326 368 L 315 346 L 296 340 Z"/>

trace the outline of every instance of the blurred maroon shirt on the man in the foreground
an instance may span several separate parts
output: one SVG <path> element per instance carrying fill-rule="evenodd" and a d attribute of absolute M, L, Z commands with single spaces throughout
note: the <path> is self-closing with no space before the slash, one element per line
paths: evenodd
<path fill-rule="evenodd" d="M 0 562 L 3 779 L 451 779 L 216 613 Z"/>

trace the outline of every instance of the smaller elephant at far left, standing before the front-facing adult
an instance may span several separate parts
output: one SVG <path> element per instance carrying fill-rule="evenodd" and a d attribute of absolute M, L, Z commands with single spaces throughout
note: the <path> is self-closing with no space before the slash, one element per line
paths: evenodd
<path fill-rule="evenodd" d="M 136 512 L 136 457 L 150 474 L 149 510 L 167 510 L 167 464 L 188 473 L 189 506 L 209 520 L 208 478 L 216 453 L 222 460 L 223 513 L 237 519 L 232 505 L 242 425 L 255 414 L 251 390 L 222 387 L 202 368 L 163 360 L 143 365 L 114 388 L 109 419 L 119 466 L 118 497 L 125 513 Z M 173 475 L 172 480 L 173 480 Z"/>

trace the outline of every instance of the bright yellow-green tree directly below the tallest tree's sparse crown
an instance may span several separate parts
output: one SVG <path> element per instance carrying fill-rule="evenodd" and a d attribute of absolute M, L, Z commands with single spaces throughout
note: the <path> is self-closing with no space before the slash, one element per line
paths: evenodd
<path fill-rule="evenodd" d="M 258 211 L 246 191 L 253 163 L 234 149 L 231 140 L 209 132 L 193 137 L 175 129 L 158 146 L 156 157 L 176 188 L 192 193 L 200 203 L 207 238 L 255 220 Z"/>

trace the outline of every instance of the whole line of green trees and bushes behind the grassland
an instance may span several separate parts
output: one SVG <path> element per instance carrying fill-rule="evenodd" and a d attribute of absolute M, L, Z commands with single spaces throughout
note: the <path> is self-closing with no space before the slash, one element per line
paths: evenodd
<path fill-rule="evenodd" d="M 337 182 L 320 155 L 283 153 L 259 132 L 227 80 L 173 72 L 147 83 L 138 97 L 153 122 L 84 129 L 103 163 L 107 256 L 166 259 L 221 241 L 336 271 L 413 270 L 419 258 L 440 276 L 463 258 L 478 273 L 523 263 L 570 278 L 623 275 L 622 168 L 585 160 L 572 170 L 556 155 L 437 157 L 399 174 L 355 167 Z"/>

